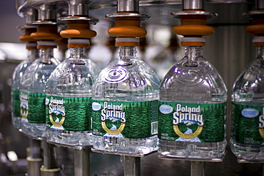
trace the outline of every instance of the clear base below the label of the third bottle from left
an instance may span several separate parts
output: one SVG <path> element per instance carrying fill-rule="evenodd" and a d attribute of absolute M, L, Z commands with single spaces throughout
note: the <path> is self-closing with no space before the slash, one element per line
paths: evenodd
<path fill-rule="evenodd" d="M 73 148 L 93 145 L 91 131 L 67 131 L 46 128 L 46 140 L 48 143 Z"/>

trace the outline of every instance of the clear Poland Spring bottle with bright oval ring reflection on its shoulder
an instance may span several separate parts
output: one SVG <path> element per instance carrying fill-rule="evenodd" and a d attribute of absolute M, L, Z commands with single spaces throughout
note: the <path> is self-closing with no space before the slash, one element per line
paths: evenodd
<path fill-rule="evenodd" d="M 131 155 L 157 150 L 159 84 L 136 48 L 121 46 L 93 85 L 93 147 Z"/>

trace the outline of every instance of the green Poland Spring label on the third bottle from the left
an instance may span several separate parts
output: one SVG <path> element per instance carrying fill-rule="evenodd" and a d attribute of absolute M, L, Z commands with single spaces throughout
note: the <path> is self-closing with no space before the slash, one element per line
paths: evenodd
<path fill-rule="evenodd" d="M 91 130 L 91 97 L 46 95 L 46 127 L 56 130 Z"/>

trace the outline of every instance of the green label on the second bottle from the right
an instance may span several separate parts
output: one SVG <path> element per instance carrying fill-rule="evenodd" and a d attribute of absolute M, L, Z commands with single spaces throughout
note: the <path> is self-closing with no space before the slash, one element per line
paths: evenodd
<path fill-rule="evenodd" d="M 158 138 L 197 143 L 225 139 L 226 103 L 159 102 Z"/>

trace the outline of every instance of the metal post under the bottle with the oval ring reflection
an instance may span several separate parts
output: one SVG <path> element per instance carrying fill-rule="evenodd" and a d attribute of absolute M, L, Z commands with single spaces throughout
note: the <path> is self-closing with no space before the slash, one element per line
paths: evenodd
<path fill-rule="evenodd" d="M 122 156 L 121 156 L 122 157 Z M 140 176 L 141 175 L 141 157 L 123 156 L 124 175 Z"/>

